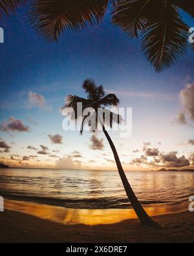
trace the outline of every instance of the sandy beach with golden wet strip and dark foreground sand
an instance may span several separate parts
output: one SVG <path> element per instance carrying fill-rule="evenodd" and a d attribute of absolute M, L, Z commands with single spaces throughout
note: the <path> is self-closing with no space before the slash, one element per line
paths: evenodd
<path fill-rule="evenodd" d="M 141 226 L 128 209 L 64 209 L 5 200 L 0 242 L 194 242 L 194 213 L 153 218 L 162 229 Z"/>

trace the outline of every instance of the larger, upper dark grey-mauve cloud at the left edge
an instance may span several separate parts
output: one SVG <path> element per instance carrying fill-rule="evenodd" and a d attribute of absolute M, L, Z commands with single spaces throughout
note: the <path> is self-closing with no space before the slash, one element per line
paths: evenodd
<path fill-rule="evenodd" d="M 10 117 L 0 125 L 0 130 L 3 132 L 30 132 L 30 127 L 23 124 L 21 120 Z"/>

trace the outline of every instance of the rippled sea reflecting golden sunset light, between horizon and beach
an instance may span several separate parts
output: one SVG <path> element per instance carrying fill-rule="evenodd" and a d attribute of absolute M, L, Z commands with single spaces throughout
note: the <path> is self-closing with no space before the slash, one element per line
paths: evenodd
<path fill-rule="evenodd" d="M 143 205 L 177 205 L 194 196 L 194 172 L 125 172 Z M 130 208 L 116 171 L 0 169 L 0 195 L 80 209 Z"/>

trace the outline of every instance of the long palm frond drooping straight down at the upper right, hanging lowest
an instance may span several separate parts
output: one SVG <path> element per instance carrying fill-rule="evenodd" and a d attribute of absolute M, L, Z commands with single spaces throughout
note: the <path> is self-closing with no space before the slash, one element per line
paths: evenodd
<path fill-rule="evenodd" d="M 162 1 L 152 23 L 141 34 L 142 50 L 156 72 L 164 71 L 184 56 L 188 45 L 188 27 L 169 1 Z"/>

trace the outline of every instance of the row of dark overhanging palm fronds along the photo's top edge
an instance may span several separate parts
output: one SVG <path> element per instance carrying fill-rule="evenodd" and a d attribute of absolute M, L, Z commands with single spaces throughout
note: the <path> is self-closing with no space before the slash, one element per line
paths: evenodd
<path fill-rule="evenodd" d="M 38 34 L 57 41 L 63 32 L 100 23 L 108 7 L 113 24 L 140 38 L 142 51 L 156 72 L 173 66 L 188 49 L 188 25 L 180 10 L 194 17 L 193 0 L 31 0 L 30 20 Z M 27 0 L 0 0 L 0 17 Z"/>

